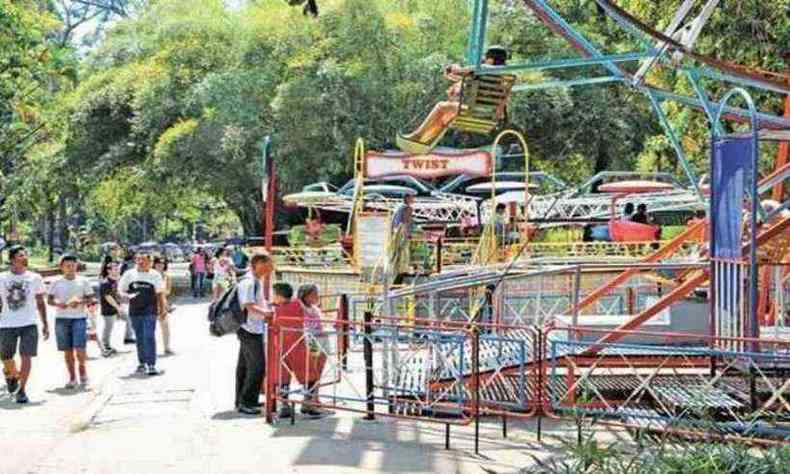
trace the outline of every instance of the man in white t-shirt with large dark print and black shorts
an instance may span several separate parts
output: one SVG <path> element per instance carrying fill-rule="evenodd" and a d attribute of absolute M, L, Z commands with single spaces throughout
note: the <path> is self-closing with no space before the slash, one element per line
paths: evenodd
<path fill-rule="evenodd" d="M 44 281 L 41 275 L 27 270 L 27 250 L 24 247 L 11 247 L 8 260 L 10 271 L 0 273 L 0 359 L 8 392 L 16 393 L 17 403 L 27 403 L 27 380 L 32 358 L 38 353 L 36 309 L 44 340 L 49 339 Z M 21 370 L 17 370 L 14 361 L 17 346 L 22 359 Z"/>

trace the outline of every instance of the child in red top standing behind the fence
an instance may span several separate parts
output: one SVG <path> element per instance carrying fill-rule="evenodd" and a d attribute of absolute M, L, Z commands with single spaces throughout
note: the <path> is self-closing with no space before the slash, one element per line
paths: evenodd
<path fill-rule="evenodd" d="M 307 395 L 305 401 L 312 400 L 316 386 L 321 380 L 321 372 L 326 363 L 326 356 L 319 350 L 310 350 L 306 336 L 306 321 L 304 307 L 298 300 L 293 300 L 293 288 L 288 283 L 275 283 L 273 285 L 274 297 L 274 324 L 280 329 L 282 347 L 280 354 L 284 356 L 277 364 L 279 373 L 278 381 L 280 393 L 283 398 L 288 398 L 290 391 L 291 375 L 305 388 Z M 309 323 L 314 325 L 313 322 Z M 314 329 L 310 329 L 314 330 Z M 302 403 L 302 413 L 308 416 L 321 416 L 311 403 Z M 279 413 L 281 418 L 291 416 L 291 407 L 284 403 Z"/>

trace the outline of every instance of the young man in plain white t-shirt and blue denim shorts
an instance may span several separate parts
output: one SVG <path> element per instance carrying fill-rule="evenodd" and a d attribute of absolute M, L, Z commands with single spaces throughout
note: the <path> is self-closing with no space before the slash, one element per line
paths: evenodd
<path fill-rule="evenodd" d="M 77 275 L 77 256 L 64 254 L 60 257 L 62 276 L 49 287 L 49 305 L 55 307 L 55 340 L 58 350 L 63 352 L 69 380 L 67 389 L 77 388 L 74 356 L 79 363 L 80 386 L 88 386 L 88 369 L 85 346 L 88 342 L 87 304 L 93 300 L 93 288 L 87 278 Z"/>

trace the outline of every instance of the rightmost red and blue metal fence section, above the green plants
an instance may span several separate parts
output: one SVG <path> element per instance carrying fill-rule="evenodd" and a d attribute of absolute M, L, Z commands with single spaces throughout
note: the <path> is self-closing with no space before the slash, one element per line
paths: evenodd
<path fill-rule="evenodd" d="M 546 332 L 546 411 L 687 438 L 790 440 L 790 340 Z M 747 348 L 734 351 L 731 347 Z"/>

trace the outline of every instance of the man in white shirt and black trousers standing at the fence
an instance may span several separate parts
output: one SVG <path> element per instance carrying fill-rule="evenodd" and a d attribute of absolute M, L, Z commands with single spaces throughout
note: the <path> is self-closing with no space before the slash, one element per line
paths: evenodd
<path fill-rule="evenodd" d="M 261 412 L 258 396 L 266 370 L 264 320 L 274 311 L 264 288 L 274 272 L 274 262 L 265 253 L 250 260 L 250 273 L 239 282 L 239 305 L 247 313 L 247 322 L 239 329 L 239 361 L 236 365 L 236 409 L 247 415 Z"/>

